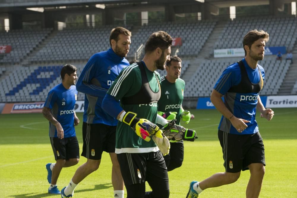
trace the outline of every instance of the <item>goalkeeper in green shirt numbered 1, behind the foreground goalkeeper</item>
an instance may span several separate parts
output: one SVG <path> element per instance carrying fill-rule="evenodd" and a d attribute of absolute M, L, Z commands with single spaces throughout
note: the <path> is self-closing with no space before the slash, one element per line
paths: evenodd
<path fill-rule="evenodd" d="M 180 118 L 189 123 L 191 114 L 185 111 L 181 104 L 184 99 L 185 82 L 179 78 L 181 74 L 181 59 L 171 56 L 166 63 L 167 75 L 161 77 L 161 98 L 158 101 L 158 114 L 168 120 L 176 119 L 179 125 Z M 168 171 L 181 167 L 184 161 L 184 142 L 170 141 L 170 152 L 164 156 Z"/>

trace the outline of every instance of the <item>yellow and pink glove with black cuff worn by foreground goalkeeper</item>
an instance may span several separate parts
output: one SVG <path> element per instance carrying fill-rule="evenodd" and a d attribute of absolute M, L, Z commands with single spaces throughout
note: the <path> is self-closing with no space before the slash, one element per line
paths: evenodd
<path fill-rule="evenodd" d="M 128 124 L 139 137 L 149 142 L 151 140 L 150 136 L 160 131 L 159 126 L 146 119 L 136 118 L 136 115 L 136 113 L 128 111 L 122 121 Z"/>

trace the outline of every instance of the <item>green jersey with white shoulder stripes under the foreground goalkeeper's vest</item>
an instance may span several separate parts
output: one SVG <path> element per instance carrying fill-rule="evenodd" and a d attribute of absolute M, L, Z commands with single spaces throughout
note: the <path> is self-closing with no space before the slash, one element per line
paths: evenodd
<path fill-rule="evenodd" d="M 151 72 L 144 66 L 151 91 L 159 91 L 160 75 L 158 72 Z M 126 111 L 137 113 L 138 118 L 145 118 L 156 123 L 158 103 L 151 104 L 123 104 L 124 98 L 133 96 L 142 87 L 140 68 L 134 63 L 124 68 L 116 80 L 110 86 L 107 94 L 120 100 L 121 107 Z M 137 100 L 137 99 L 135 99 Z M 159 151 L 153 140 L 146 142 L 140 138 L 129 125 L 118 122 L 116 128 L 116 153 L 149 153 Z"/>

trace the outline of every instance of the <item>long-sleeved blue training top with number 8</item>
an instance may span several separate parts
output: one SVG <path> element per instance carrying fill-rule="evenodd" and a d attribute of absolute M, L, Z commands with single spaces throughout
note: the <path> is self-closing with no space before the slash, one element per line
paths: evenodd
<path fill-rule="evenodd" d="M 116 55 L 111 48 L 91 56 L 76 83 L 77 91 L 85 94 L 84 122 L 117 125 L 118 120 L 105 112 L 101 105 L 111 83 L 127 66 L 127 59 Z"/>

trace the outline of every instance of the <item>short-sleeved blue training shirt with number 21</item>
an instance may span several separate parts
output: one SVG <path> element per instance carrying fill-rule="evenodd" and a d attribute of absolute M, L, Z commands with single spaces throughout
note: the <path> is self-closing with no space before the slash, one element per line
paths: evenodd
<path fill-rule="evenodd" d="M 74 137 L 74 106 L 77 96 L 75 85 L 66 89 L 62 83 L 55 86 L 48 93 L 44 107 L 51 109 L 54 118 L 61 124 L 64 130 L 64 137 Z M 50 137 L 58 137 L 56 126 L 50 123 Z"/>

